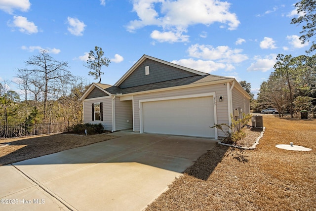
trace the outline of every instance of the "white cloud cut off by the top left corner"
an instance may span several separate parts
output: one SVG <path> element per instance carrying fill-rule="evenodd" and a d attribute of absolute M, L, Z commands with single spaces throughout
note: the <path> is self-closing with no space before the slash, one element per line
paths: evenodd
<path fill-rule="evenodd" d="M 30 9 L 29 0 L 0 0 L 0 9 L 12 14 L 15 9 L 26 12 Z"/>

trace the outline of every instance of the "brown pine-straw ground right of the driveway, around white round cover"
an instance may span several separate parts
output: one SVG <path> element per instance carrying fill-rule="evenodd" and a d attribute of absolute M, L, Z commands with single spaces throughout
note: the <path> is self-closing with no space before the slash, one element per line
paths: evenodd
<path fill-rule="evenodd" d="M 217 144 L 147 211 L 316 210 L 316 120 L 264 115 L 255 150 Z M 305 146 L 287 151 L 276 144 Z"/>

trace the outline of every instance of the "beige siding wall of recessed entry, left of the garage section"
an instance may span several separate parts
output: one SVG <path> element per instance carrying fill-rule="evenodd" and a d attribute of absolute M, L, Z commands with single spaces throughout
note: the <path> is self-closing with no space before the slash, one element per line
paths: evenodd
<path fill-rule="evenodd" d="M 132 100 L 120 101 L 119 97 L 115 98 L 115 122 L 116 130 L 133 128 Z"/>

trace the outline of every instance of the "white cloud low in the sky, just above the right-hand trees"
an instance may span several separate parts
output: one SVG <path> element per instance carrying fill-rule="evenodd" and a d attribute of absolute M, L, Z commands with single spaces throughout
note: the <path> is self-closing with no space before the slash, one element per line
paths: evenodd
<path fill-rule="evenodd" d="M 253 59 L 255 61 L 251 63 L 250 67 L 247 68 L 247 71 L 267 72 L 276 64 L 276 54 L 270 54 L 264 58 L 261 56 L 255 56 Z"/>

